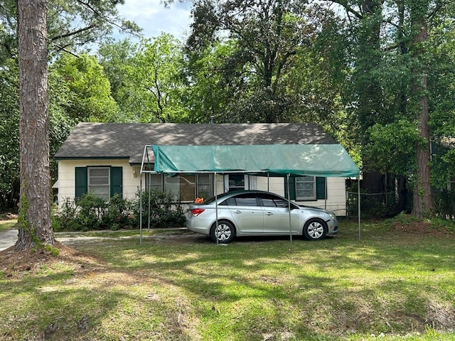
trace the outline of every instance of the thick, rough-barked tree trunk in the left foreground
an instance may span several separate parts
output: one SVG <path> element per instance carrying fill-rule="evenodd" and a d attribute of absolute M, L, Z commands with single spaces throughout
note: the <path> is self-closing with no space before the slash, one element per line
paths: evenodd
<path fill-rule="evenodd" d="M 50 224 L 47 0 L 18 0 L 21 200 L 16 249 L 55 244 Z"/>

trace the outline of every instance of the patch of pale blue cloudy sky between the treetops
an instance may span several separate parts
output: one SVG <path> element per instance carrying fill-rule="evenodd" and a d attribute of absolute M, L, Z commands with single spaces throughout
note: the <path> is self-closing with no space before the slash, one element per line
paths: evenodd
<path fill-rule="evenodd" d="M 124 0 L 117 9 L 120 16 L 137 23 L 146 38 L 159 36 L 161 32 L 171 33 L 180 40 L 188 35 L 191 20 L 189 1 L 174 0 L 166 8 L 161 0 Z"/>

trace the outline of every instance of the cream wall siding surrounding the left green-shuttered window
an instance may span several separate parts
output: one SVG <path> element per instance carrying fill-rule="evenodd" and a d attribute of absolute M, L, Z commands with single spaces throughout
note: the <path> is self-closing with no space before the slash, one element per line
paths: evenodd
<path fill-rule="evenodd" d="M 87 166 L 122 167 L 122 195 L 132 199 L 139 189 L 139 176 L 128 160 L 60 160 L 58 161 L 58 205 L 75 197 L 75 168 Z"/>

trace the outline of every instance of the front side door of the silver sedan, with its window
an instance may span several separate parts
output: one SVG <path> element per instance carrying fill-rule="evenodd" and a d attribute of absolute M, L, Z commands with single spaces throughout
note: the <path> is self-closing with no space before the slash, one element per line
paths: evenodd
<path fill-rule="evenodd" d="M 264 212 L 264 234 L 289 234 L 288 201 L 271 193 L 259 195 L 259 202 Z M 291 204 L 291 208 L 294 204 Z M 299 232 L 299 210 L 291 209 L 292 232 Z"/>

